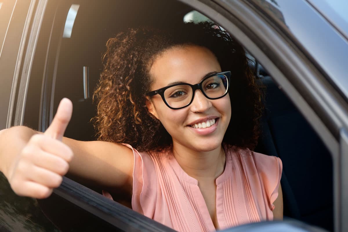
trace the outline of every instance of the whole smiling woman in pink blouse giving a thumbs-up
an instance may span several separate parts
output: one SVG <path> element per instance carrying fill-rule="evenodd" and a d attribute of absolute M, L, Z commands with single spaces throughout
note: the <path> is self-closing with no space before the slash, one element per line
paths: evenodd
<path fill-rule="evenodd" d="M 250 151 L 261 94 L 225 31 L 211 23 L 130 29 L 108 41 L 104 60 L 98 141 L 63 137 L 68 99 L 45 133 L 1 131 L 0 170 L 18 195 L 46 198 L 69 171 L 122 189 L 134 210 L 178 231 L 283 217 L 282 163 Z"/>

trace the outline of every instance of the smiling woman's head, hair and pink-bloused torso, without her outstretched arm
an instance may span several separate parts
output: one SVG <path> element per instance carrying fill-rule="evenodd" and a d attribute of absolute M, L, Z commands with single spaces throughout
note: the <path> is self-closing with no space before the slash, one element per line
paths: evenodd
<path fill-rule="evenodd" d="M 179 231 L 273 219 L 282 164 L 249 150 L 262 97 L 243 48 L 208 22 L 133 29 L 107 47 L 95 119 L 100 140 L 137 149 L 132 208 Z"/>

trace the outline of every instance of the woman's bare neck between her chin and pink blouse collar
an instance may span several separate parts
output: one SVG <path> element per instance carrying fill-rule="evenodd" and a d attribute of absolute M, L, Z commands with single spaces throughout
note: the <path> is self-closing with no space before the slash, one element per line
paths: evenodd
<path fill-rule="evenodd" d="M 173 143 L 173 154 L 185 173 L 198 181 L 215 181 L 225 168 L 226 155 L 222 146 L 203 152 Z"/>

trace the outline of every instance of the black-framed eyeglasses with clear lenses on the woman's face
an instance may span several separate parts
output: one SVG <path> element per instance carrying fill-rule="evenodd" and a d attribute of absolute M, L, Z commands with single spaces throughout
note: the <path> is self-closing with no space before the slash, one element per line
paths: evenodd
<path fill-rule="evenodd" d="M 179 110 L 192 103 L 197 89 L 200 89 L 206 98 L 212 100 L 226 96 L 230 86 L 230 77 L 230 71 L 214 73 L 196 85 L 177 83 L 150 91 L 147 96 L 159 94 L 169 108 Z"/>

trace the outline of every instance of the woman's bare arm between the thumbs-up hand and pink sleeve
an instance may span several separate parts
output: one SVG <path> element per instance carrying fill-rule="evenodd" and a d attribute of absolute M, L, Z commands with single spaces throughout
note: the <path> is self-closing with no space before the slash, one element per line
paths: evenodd
<path fill-rule="evenodd" d="M 63 143 L 74 152 L 68 175 L 104 190 L 121 187 L 132 191 L 134 157 L 131 149 L 116 143 L 82 142 L 66 137 Z"/>

